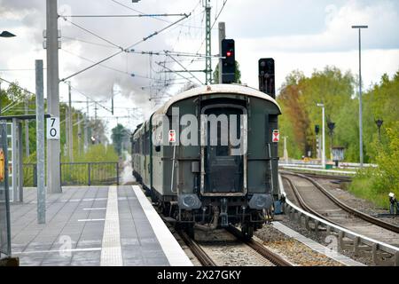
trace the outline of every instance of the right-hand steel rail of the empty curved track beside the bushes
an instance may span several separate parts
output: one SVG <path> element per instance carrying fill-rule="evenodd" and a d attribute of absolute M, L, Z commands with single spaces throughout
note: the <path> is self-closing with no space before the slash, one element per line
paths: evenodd
<path fill-rule="evenodd" d="M 325 194 L 325 196 L 329 200 L 331 200 L 334 204 L 336 204 L 338 207 L 340 207 L 340 209 L 344 209 L 348 213 L 350 213 L 350 214 L 352 214 L 352 215 L 354 215 L 356 217 L 359 217 L 359 218 L 363 219 L 366 222 L 372 223 L 373 225 L 378 225 L 378 226 L 380 226 L 380 227 L 382 227 L 384 229 L 387 229 L 387 230 L 389 230 L 391 232 L 399 233 L 399 226 L 387 223 L 385 221 L 379 220 L 376 217 L 372 217 L 372 216 L 370 216 L 368 214 L 365 214 L 365 213 L 363 213 L 363 212 L 361 212 L 359 210 L 350 208 L 347 204 L 345 204 L 344 202 L 342 202 L 342 201 L 338 200 L 336 197 L 334 197 L 332 195 L 332 193 L 329 193 L 322 185 L 317 183 L 317 181 L 314 180 L 313 178 L 307 177 L 305 175 L 293 173 L 293 172 L 288 172 L 288 171 L 281 171 L 281 173 L 282 174 L 288 174 L 288 175 L 296 176 L 296 177 L 302 177 L 302 178 L 305 178 L 305 179 L 309 180 L 309 182 L 311 182 L 313 185 L 315 185 L 317 187 L 317 189 L 321 193 Z"/>

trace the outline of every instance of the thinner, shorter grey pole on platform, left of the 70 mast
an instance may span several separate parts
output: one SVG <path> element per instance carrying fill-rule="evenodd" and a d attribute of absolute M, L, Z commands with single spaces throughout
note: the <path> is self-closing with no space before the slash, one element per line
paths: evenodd
<path fill-rule="evenodd" d="M 46 191 L 44 187 L 45 167 L 44 167 L 43 60 L 35 61 L 35 73 L 36 73 L 37 222 L 38 224 L 45 224 Z"/>

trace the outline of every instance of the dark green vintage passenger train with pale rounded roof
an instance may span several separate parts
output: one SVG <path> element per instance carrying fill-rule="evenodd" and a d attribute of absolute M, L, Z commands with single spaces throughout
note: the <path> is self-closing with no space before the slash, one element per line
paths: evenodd
<path fill-rule="evenodd" d="M 246 238 L 273 215 L 281 108 L 240 84 L 183 91 L 131 135 L 133 176 L 189 233 L 238 225 Z"/>

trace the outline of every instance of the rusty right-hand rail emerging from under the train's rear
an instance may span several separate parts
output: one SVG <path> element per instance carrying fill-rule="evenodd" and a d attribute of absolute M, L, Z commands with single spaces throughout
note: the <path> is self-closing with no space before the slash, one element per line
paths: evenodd
<path fill-rule="evenodd" d="M 231 225 L 227 228 L 227 231 L 238 238 L 239 241 L 243 241 L 248 247 L 254 249 L 254 251 L 256 251 L 258 254 L 268 259 L 272 264 L 278 266 L 293 266 L 293 264 L 286 261 L 286 259 L 284 259 L 282 256 L 279 256 L 278 254 L 272 252 L 269 248 L 263 246 L 262 243 L 254 241 L 253 239 L 246 240 L 238 228 Z"/>

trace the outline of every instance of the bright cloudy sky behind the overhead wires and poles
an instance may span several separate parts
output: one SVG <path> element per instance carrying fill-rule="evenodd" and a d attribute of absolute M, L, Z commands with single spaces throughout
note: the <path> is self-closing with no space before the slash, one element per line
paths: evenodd
<path fill-rule="evenodd" d="M 223 3 L 225 5 L 223 6 Z M 61 49 L 59 77 L 69 75 L 105 59 L 134 43 L 140 51 L 180 51 L 205 53 L 205 19 L 202 0 L 59 0 L 59 15 L 127 15 L 173 13 L 191 16 L 140 43 L 145 36 L 167 27 L 182 16 L 140 18 L 59 18 Z M 358 32 L 352 25 L 368 25 L 362 30 L 362 77 L 364 87 L 379 83 L 381 75 L 399 70 L 399 2 L 395 0 L 211 0 L 212 54 L 218 53 L 219 21 L 226 25 L 226 37 L 236 43 L 236 59 L 241 81 L 258 87 L 257 62 L 274 58 L 277 89 L 286 75 L 300 70 L 311 75 L 326 66 L 358 74 Z M 219 15 L 217 19 L 216 16 Z M 72 23 L 71 23 L 72 22 Z M 18 81 L 35 91 L 35 59 L 43 59 L 44 0 L 0 0 L 0 29 L 17 35 L 0 40 L 0 76 Z M 80 27 L 80 28 L 79 28 Z M 85 29 L 85 30 L 84 30 Z M 90 31 L 90 33 L 88 32 Z M 96 35 L 96 36 L 93 36 Z M 101 37 L 101 38 L 100 38 Z M 90 68 L 70 78 L 73 106 L 86 112 L 86 97 L 109 108 L 114 98 L 115 112 L 98 106 L 98 117 L 110 130 L 121 122 L 129 129 L 148 117 L 169 96 L 188 82 L 188 73 L 164 72 L 159 64 L 171 70 L 203 69 L 203 57 L 175 57 L 123 52 L 101 66 Z M 193 60 L 194 59 L 194 60 Z M 164 63 L 162 63 L 164 62 Z M 215 68 L 217 60 L 213 61 Z M 134 76 L 132 76 L 132 74 Z M 205 81 L 202 73 L 193 73 Z M 183 77 L 182 77 L 183 76 Z M 176 83 L 165 87 L 165 80 Z M 190 79 L 198 83 L 196 78 Z M 151 88 L 149 86 L 152 86 Z M 2 83 L 2 87 L 6 84 Z M 60 99 L 66 101 L 67 87 L 60 83 Z M 151 95 L 150 95 L 151 92 Z M 84 95 L 83 95 L 84 94 Z M 160 99 L 154 99 L 160 97 Z M 150 100 L 151 99 L 151 100 Z M 90 103 L 89 115 L 94 115 Z M 62 121 L 62 118 L 61 118 Z"/>

